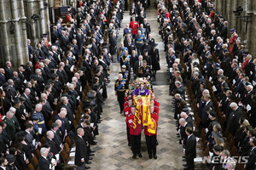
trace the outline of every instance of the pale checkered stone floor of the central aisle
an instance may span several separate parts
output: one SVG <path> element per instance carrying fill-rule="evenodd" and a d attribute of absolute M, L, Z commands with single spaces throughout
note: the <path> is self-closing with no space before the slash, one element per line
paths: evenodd
<path fill-rule="evenodd" d="M 127 145 L 125 116 L 119 114 L 119 104 L 114 95 L 113 82 L 119 73 L 119 63 L 113 63 L 110 74 L 111 83 L 108 84 L 108 99 L 105 101 L 102 113 L 102 123 L 99 124 L 100 135 L 97 137 L 98 144 L 93 147 L 96 156 L 93 156 L 91 169 L 168 169 L 176 170 L 182 168 L 182 146 L 178 144 L 176 137 L 175 121 L 173 120 L 172 97 L 168 93 L 166 83 L 166 57 L 163 42 L 160 40 L 159 23 L 157 22 L 157 11 L 154 3 L 147 9 L 147 19 L 151 25 L 152 37 L 159 45 L 160 67 L 154 83 L 154 94 L 160 102 L 160 118 L 157 139 L 157 160 L 149 160 L 145 137 L 142 134 L 143 158 L 132 159 L 130 147 Z M 119 41 L 123 34 L 125 25 L 130 21 L 128 12 L 125 12 L 122 28 L 119 30 Z M 119 44 L 119 43 L 118 43 Z"/>

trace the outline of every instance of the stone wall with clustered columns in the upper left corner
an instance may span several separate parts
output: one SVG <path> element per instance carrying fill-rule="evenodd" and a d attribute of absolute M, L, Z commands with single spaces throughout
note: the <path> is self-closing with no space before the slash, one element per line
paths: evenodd
<path fill-rule="evenodd" d="M 48 1 L 46 1 L 48 2 Z M 28 61 L 26 40 L 30 38 L 32 46 L 49 31 L 49 7 L 43 0 L 0 0 L 0 66 L 7 60 L 15 68 Z M 39 20 L 32 20 L 33 14 Z M 10 31 L 10 27 L 14 31 Z"/>

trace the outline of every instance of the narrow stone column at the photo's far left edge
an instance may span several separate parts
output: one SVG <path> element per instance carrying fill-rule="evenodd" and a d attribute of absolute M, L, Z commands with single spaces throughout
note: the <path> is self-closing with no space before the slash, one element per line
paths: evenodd
<path fill-rule="evenodd" d="M 3 0 L 0 0 L 0 27 L 3 29 L 1 30 L 3 33 L 3 54 L 5 57 L 5 61 L 10 60 L 10 55 L 9 55 L 9 38 L 7 35 L 7 32 L 9 29 L 7 29 L 7 20 L 5 19 L 5 14 L 4 14 L 4 5 L 3 5 Z"/>

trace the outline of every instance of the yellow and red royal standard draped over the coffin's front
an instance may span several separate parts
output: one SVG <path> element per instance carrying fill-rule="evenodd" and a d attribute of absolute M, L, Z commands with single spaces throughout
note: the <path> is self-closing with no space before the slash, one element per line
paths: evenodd
<path fill-rule="evenodd" d="M 134 105 L 136 105 L 135 118 L 133 120 L 135 127 L 148 126 L 148 133 L 155 134 L 156 122 L 151 118 L 149 107 L 150 107 L 150 96 L 136 96 L 134 95 Z M 139 128 L 137 128 L 139 129 Z"/>

